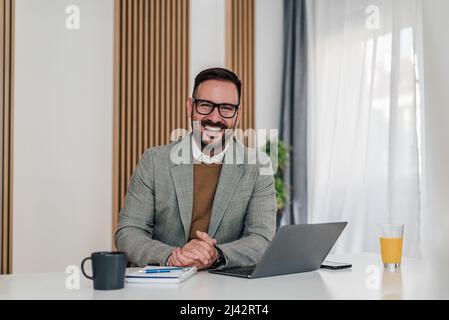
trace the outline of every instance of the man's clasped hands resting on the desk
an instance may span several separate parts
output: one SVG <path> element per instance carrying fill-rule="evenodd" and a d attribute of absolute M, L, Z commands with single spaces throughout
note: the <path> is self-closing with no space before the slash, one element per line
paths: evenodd
<path fill-rule="evenodd" d="M 215 248 L 216 239 L 212 239 L 205 232 L 196 231 L 197 239 L 187 242 L 182 248 L 176 248 L 167 260 L 170 267 L 197 267 L 206 269 L 218 259 Z"/>

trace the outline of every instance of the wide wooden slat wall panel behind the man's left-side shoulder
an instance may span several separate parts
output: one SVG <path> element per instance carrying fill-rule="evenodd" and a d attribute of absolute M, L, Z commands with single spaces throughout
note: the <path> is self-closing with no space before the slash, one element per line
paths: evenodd
<path fill-rule="evenodd" d="M 189 0 L 115 0 L 113 232 L 150 147 L 188 129 Z"/>

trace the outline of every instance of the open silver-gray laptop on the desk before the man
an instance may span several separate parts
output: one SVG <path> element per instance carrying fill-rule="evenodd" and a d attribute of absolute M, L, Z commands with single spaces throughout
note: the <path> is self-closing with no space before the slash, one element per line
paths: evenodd
<path fill-rule="evenodd" d="M 347 224 L 282 226 L 257 265 L 209 272 L 254 279 L 317 270 Z"/>

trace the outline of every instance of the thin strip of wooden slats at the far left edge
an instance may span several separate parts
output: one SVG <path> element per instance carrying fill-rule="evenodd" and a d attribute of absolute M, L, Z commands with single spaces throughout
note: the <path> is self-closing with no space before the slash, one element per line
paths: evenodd
<path fill-rule="evenodd" d="M 12 272 L 14 0 L 0 0 L 1 228 L 0 274 Z"/>

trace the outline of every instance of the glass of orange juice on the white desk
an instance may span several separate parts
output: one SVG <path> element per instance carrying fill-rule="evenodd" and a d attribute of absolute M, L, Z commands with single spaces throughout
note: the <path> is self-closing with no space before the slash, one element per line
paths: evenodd
<path fill-rule="evenodd" d="M 396 270 L 401 266 L 403 235 L 403 224 L 382 224 L 379 227 L 382 262 L 389 270 Z"/>

